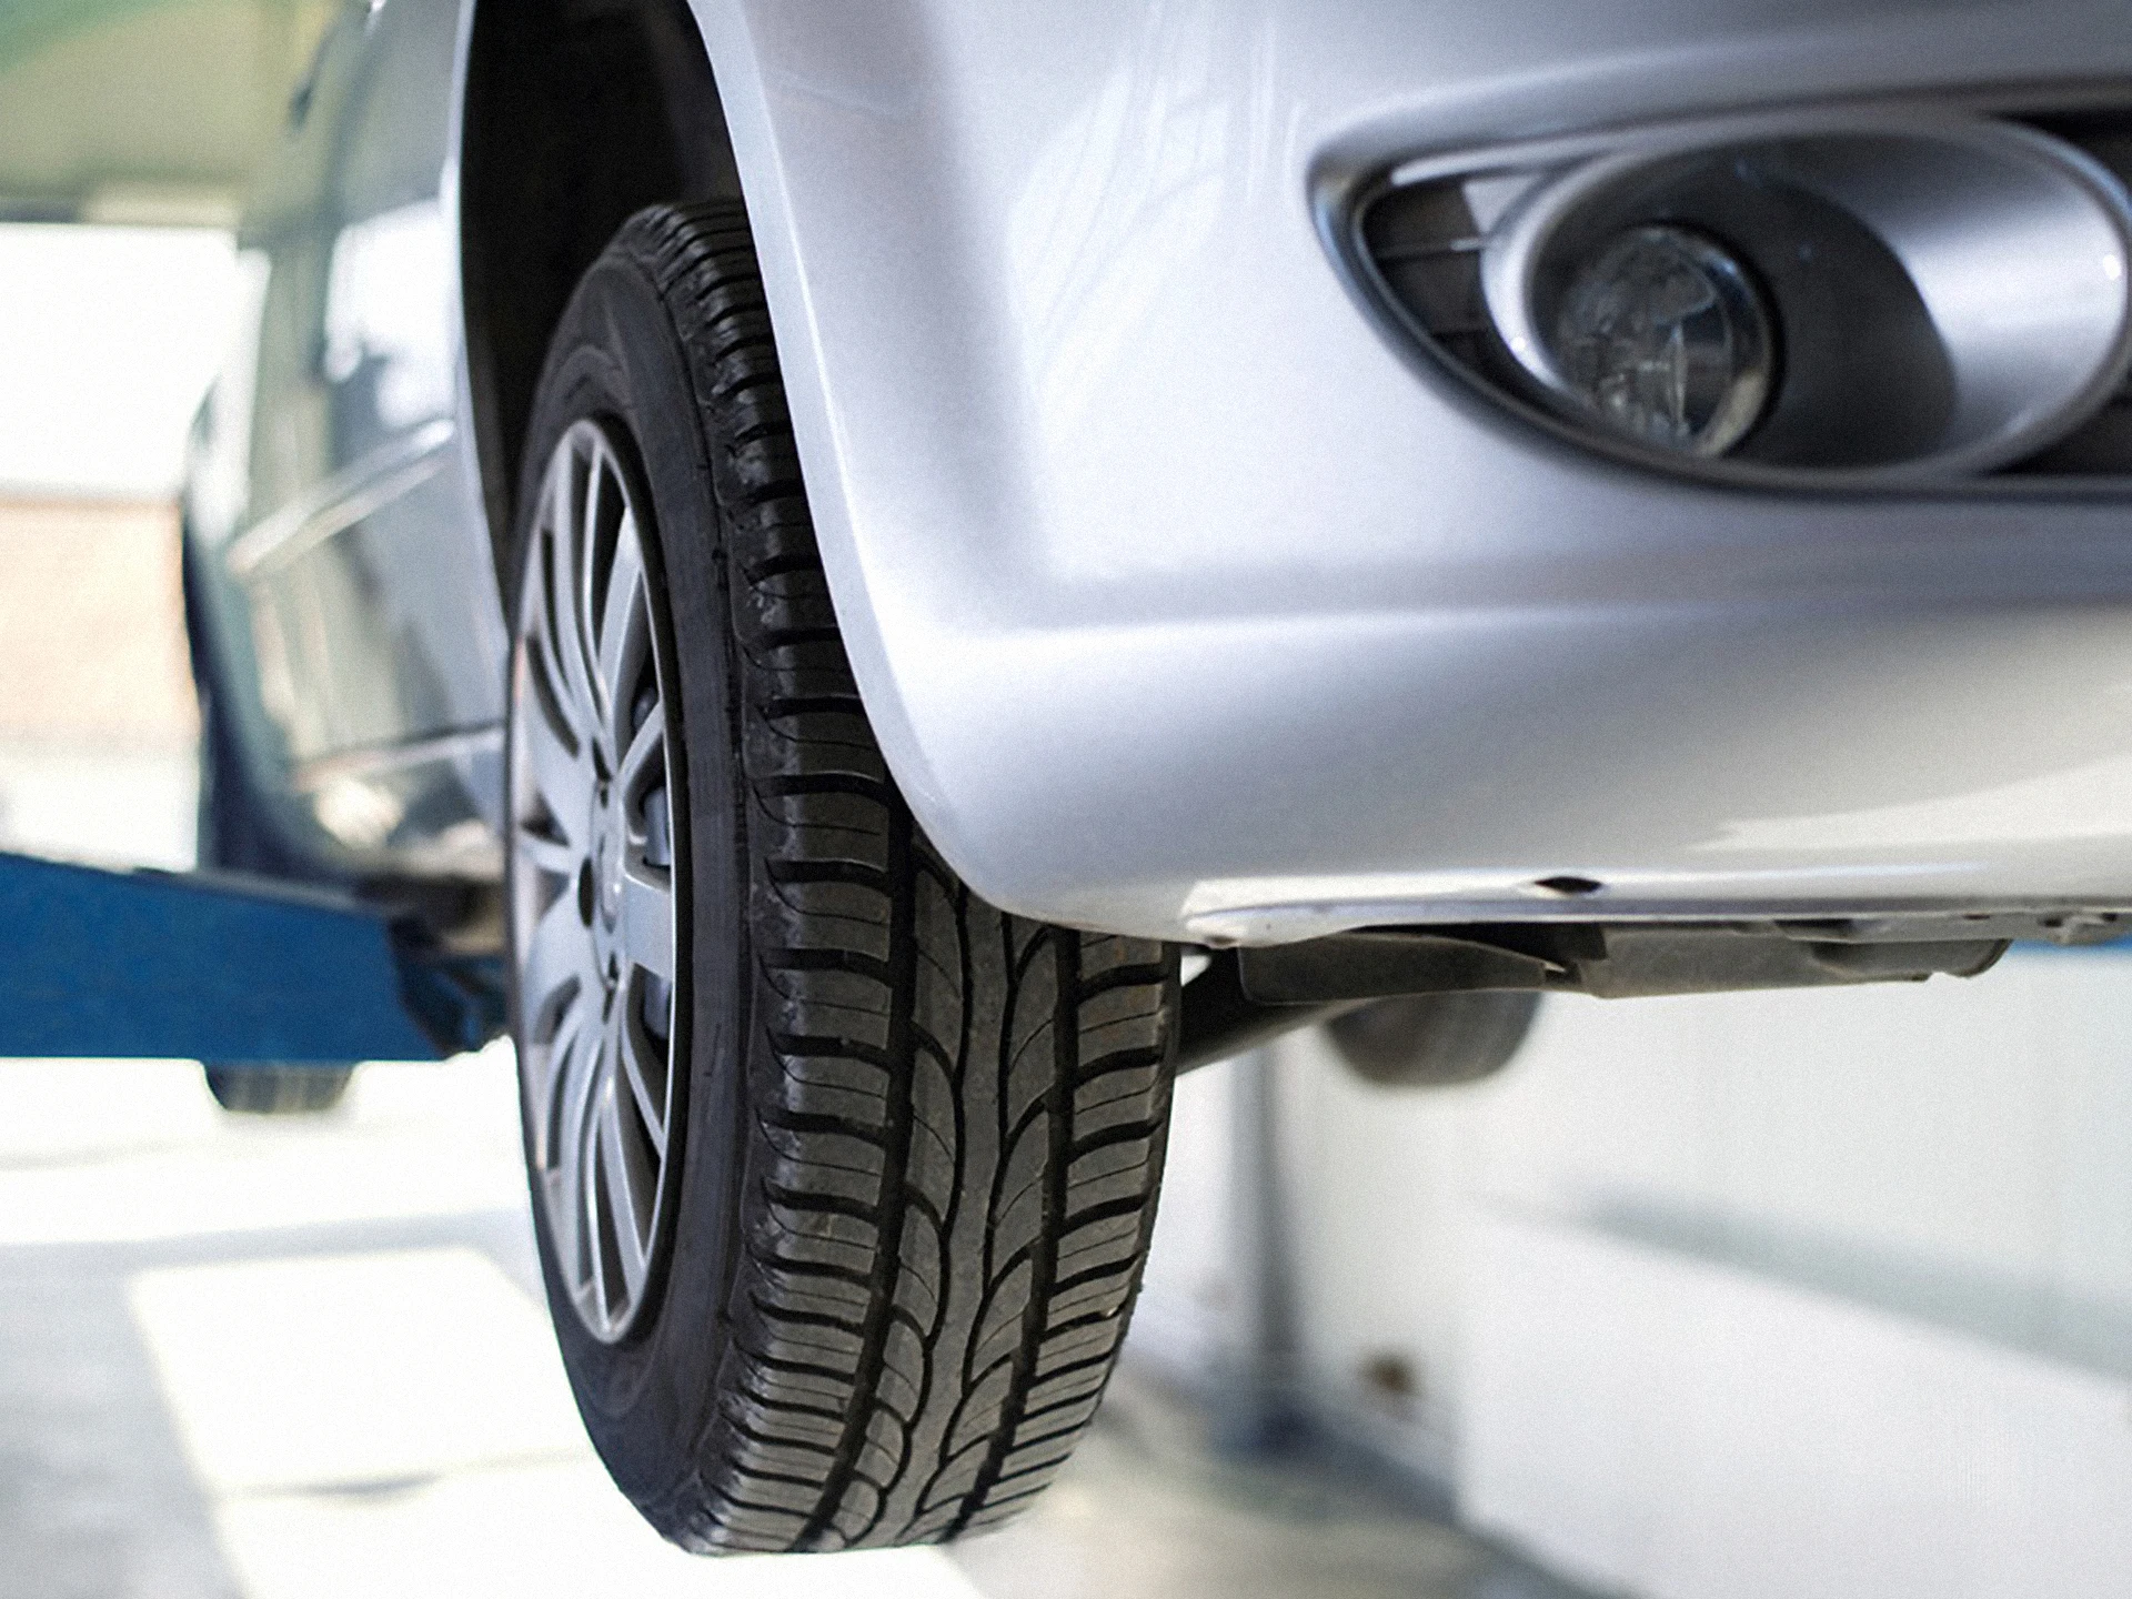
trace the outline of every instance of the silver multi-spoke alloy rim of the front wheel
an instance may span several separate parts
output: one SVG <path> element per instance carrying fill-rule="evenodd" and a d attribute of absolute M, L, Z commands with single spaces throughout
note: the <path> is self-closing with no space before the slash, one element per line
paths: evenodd
<path fill-rule="evenodd" d="M 578 422 L 542 480 L 512 650 L 512 957 L 537 1202 L 586 1330 L 659 1277 L 674 1126 L 674 782 L 646 522 Z"/>

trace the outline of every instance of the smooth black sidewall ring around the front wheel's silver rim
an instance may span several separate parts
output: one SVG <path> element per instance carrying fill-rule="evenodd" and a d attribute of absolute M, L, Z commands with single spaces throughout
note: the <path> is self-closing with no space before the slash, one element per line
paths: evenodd
<path fill-rule="evenodd" d="M 678 1136 L 682 1164 L 661 1224 L 665 1264 L 627 1339 L 601 1343 L 580 1320 L 554 1264 L 537 1179 L 533 1224 L 550 1318 L 586 1431 L 616 1486 L 650 1512 L 684 1488 L 718 1392 L 725 1303 L 740 1260 L 750 959 L 736 669 L 704 420 L 655 284 L 616 252 L 591 269 L 563 313 L 535 399 L 505 561 L 514 635 L 548 461 L 563 433 L 586 418 L 603 420 L 633 446 L 635 461 L 625 469 L 637 473 L 650 505 L 650 527 L 640 533 L 676 795 L 674 1051 L 682 1068 L 674 1075 L 667 1136 Z M 516 917 L 505 923 L 516 930 Z M 520 1038 L 516 949 L 510 959 L 512 1036 Z M 527 1160 L 531 1173 L 531 1143 Z"/>

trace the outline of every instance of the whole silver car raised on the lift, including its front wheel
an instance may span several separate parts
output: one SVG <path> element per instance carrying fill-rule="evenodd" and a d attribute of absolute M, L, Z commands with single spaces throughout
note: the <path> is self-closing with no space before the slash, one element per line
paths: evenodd
<path fill-rule="evenodd" d="M 2072 0 L 350 4 L 194 441 L 203 859 L 505 953 L 652 1524 L 991 1527 L 1175 1070 L 2115 936 L 2128 83 Z"/>

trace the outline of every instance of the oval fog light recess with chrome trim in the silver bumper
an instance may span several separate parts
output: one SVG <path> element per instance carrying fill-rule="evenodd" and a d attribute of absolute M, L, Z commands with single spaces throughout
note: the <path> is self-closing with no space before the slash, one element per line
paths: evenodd
<path fill-rule="evenodd" d="M 1437 356 L 1676 469 L 1955 482 L 2085 429 L 2132 371 L 2126 181 L 1996 115 L 1844 107 L 1426 158 L 1354 215 L 1377 294 Z M 1667 239 L 1708 296 L 1674 352 L 1699 399 L 1674 418 L 1637 399 L 1665 382 L 1667 356 L 1637 354 L 1657 322 L 1635 333 L 1620 301 L 1593 324 L 1633 239 Z"/>

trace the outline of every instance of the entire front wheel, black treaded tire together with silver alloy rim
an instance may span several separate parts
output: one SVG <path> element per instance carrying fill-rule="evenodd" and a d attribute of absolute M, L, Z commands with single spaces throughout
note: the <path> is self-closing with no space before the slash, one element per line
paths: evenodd
<path fill-rule="evenodd" d="M 512 1030 L 593 1443 L 701 1552 L 998 1524 L 1126 1332 L 1177 955 L 987 906 L 912 821 L 738 205 L 586 273 L 505 586 Z"/>

